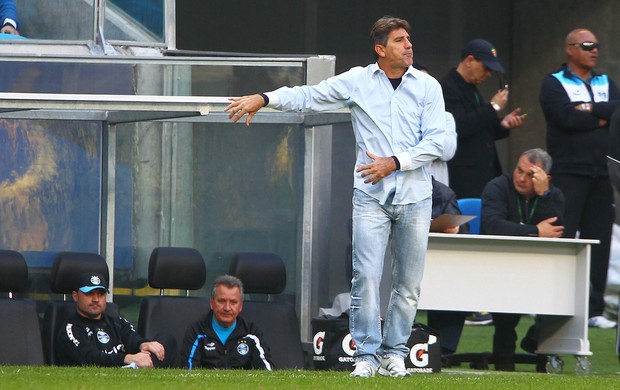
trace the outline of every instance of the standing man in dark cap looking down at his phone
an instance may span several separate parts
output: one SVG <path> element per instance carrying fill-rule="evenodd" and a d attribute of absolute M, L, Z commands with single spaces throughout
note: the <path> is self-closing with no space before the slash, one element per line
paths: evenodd
<path fill-rule="evenodd" d="M 495 141 L 506 138 L 508 130 L 523 124 L 521 109 L 505 116 L 508 89 L 502 88 L 487 103 L 477 85 L 493 72 L 503 73 L 497 51 L 484 39 L 469 42 L 456 68 L 441 81 L 446 111 L 456 121 L 456 154 L 448 162 L 450 187 L 458 198 L 480 198 L 484 186 L 502 173 Z"/>

